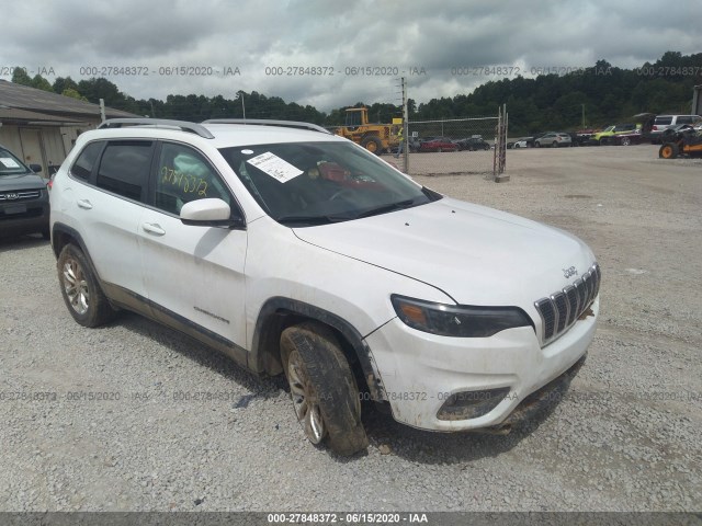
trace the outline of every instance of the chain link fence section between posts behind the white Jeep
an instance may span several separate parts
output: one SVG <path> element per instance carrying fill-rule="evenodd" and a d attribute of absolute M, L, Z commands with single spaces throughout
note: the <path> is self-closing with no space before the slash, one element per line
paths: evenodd
<path fill-rule="evenodd" d="M 408 123 L 409 175 L 492 174 L 498 117 Z M 400 162 L 398 165 L 401 165 Z"/>

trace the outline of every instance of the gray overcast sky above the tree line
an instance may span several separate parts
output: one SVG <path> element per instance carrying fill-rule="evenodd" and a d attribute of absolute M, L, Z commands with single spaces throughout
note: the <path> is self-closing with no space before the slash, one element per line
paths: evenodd
<path fill-rule="evenodd" d="M 409 96 L 427 102 L 499 78 L 479 67 L 530 77 L 532 68 L 567 70 L 601 58 L 633 68 L 667 50 L 702 50 L 699 0 L 22 0 L 3 11 L 11 15 L 0 68 L 22 66 L 50 82 L 97 72 L 136 99 L 234 99 L 256 90 L 321 111 L 358 101 L 398 104 L 403 75 Z M 212 75 L 162 69 L 180 66 Z M 148 76 L 106 75 L 110 67 Z M 327 75 L 288 76 L 295 67 Z M 353 75 L 353 67 L 386 75 Z M 10 80 L 7 69 L 0 73 Z"/>

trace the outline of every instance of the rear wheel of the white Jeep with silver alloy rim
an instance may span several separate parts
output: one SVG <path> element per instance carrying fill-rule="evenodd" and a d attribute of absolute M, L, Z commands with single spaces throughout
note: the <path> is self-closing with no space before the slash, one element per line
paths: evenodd
<path fill-rule="evenodd" d="M 56 264 L 61 296 L 73 319 L 83 327 L 99 327 L 116 312 L 102 293 L 88 260 L 75 244 L 61 250 Z"/>

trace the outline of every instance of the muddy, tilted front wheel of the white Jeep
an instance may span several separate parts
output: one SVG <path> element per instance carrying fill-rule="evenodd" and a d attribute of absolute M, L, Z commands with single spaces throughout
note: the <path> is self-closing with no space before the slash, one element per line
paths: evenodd
<path fill-rule="evenodd" d="M 333 332 L 312 322 L 285 329 L 281 359 L 307 439 L 342 456 L 367 448 L 359 388 Z"/>

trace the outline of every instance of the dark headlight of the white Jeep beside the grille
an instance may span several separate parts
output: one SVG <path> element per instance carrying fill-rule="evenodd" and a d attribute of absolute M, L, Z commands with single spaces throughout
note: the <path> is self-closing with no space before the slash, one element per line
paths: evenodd
<path fill-rule="evenodd" d="M 519 307 L 444 305 L 398 295 L 390 300 L 406 325 L 442 336 L 487 338 L 505 329 L 533 327 Z"/>

